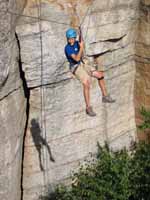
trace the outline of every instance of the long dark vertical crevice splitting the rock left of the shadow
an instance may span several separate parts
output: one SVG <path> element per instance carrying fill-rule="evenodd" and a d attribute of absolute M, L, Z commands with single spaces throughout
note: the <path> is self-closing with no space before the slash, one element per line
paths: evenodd
<path fill-rule="evenodd" d="M 29 110 L 30 110 L 30 103 L 29 103 L 29 99 L 30 99 L 30 89 L 27 86 L 27 81 L 25 78 L 25 73 L 22 69 L 22 61 L 21 61 L 21 47 L 20 47 L 20 41 L 18 38 L 17 33 L 15 33 L 16 36 L 16 40 L 17 40 L 17 44 L 18 44 L 18 49 L 19 49 L 19 54 L 18 54 L 18 65 L 19 65 L 19 71 L 20 71 L 20 78 L 22 79 L 22 83 L 23 83 L 23 89 L 24 89 L 24 95 L 27 101 L 27 105 L 26 105 L 26 123 L 25 123 L 25 129 L 24 129 L 24 136 L 23 136 L 23 146 L 22 146 L 22 164 L 21 164 L 21 183 L 20 183 L 20 187 L 21 187 L 21 200 L 23 199 L 23 162 L 24 162 L 24 143 L 25 143 L 25 136 L 26 136 L 26 131 L 27 131 L 27 126 L 28 126 L 28 119 L 29 119 Z"/>

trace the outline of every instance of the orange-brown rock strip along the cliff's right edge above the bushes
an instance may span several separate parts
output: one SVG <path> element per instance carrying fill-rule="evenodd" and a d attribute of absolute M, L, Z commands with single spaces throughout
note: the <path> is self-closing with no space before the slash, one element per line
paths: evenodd
<path fill-rule="evenodd" d="M 140 21 L 136 40 L 136 82 L 135 107 L 136 123 L 141 122 L 139 109 L 145 106 L 150 109 L 150 0 L 140 2 Z M 139 132 L 140 139 L 150 138 L 149 134 Z"/>

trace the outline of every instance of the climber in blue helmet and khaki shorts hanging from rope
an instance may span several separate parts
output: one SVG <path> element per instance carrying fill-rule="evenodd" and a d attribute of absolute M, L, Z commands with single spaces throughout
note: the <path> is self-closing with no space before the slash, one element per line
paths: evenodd
<path fill-rule="evenodd" d="M 102 71 L 97 71 L 96 68 L 90 66 L 86 58 L 82 59 L 84 42 L 77 41 L 77 32 L 75 29 L 68 29 L 66 31 L 67 45 L 65 46 L 65 55 L 70 64 L 70 71 L 75 77 L 80 80 L 83 85 L 83 94 L 86 104 L 86 114 L 91 117 L 96 116 L 96 113 L 93 111 L 92 106 L 90 105 L 90 84 L 91 77 L 94 77 L 98 80 L 99 87 L 102 92 L 102 102 L 103 103 L 113 103 L 115 100 L 107 94 L 104 82 L 104 75 Z M 81 38 L 79 36 L 79 38 Z M 97 60 L 95 60 L 97 62 Z"/>

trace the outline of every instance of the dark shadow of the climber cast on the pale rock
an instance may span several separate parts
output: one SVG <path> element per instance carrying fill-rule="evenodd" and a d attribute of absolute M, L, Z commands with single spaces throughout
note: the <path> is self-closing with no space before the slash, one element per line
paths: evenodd
<path fill-rule="evenodd" d="M 36 119 L 32 119 L 31 120 L 31 127 L 30 127 L 30 130 L 31 130 L 31 135 L 32 135 L 32 138 L 33 138 L 33 142 L 35 144 L 35 147 L 38 151 L 38 156 L 39 156 L 39 162 L 40 162 L 40 169 L 42 171 L 44 171 L 44 167 L 43 167 L 43 164 L 42 164 L 42 147 L 45 146 L 48 153 L 49 153 L 49 159 L 50 161 L 52 162 L 55 162 L 53 156 L 52 156 L 52 153 L 51 153 L 51 150 L 50 150 L 50 147 L 46 141 L 46 139 L 44 139 L 41 135 L 41 128 L 39 126 L 39 123 Z"/>

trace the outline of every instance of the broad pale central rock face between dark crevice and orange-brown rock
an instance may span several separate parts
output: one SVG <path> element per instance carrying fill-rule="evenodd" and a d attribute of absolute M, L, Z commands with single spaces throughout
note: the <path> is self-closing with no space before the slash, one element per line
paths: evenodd
<path fill-rule="evenodd" d="M 71 171 L 89 152 L 96 152 L 97 141 L 118 149 L 136 139 L 134 55 L 139 0 L 28 1 L 23 15 L 17 35 L 30 89 L 23 199 L 31 200 L 48 184 L 67 184 Z M 116 98 L 115 104 L 102 104 L 93 80 L 95 118 L 86 116 L 82 86 L 72 78 L 64 56 L 65 31 L 80 23 L 86 55 L 102 61 L 108 92 Z"/>

